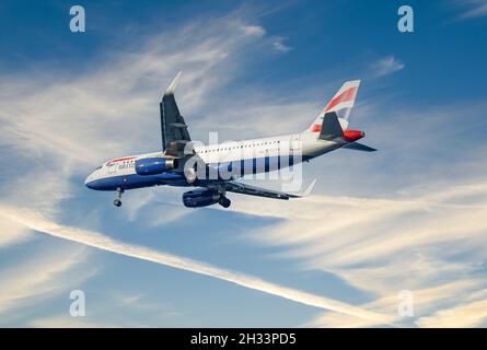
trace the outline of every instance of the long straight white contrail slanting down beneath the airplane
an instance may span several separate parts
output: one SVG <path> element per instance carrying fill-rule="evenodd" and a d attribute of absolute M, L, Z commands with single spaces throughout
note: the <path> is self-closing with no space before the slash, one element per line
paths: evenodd
<path fill-rule="evenodd" d="M 21 223 L 31 230 L 59 238 L 78 242 L 103 250 L 170 266 L 181 270 L 210 276 L 264 293 L 292 300 L 301 304 L 372 319 L 380 324 L 390 324 L 392 322 L 392 318 L 389 316 L 341 303 L 339 301 L 270 283 L 256 277 L 221 269 L 206 262 L 119 242 L 98 232 L 60 225 L 49 221 L 44 215 L 35 211 L 0 206 L 0 214 Z"/>

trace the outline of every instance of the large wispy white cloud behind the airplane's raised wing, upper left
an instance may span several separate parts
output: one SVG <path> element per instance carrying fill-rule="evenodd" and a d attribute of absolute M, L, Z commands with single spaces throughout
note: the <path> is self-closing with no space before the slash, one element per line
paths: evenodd
<path fill-rule="evenodd" d="M 206 121 L 202 110 L 214 101 L 209 97 L 223 90 L 234 68 L 246 59 L 239 54 L 258 39 L 242 35 L 241 23 L 229 19 L 210 25 L 193 23 L 147 38 L 136 52 L 107 55 L 104 63 L 81 75 L 59 77 L 45 70 L 3 77 L 2 86 L 8 88 L 0 90 L 4 106 L 0 145 L 13 147 L 26 158 L 53 162 L 57 156 L 57 167 L 67 171 L 95 165 L 101 154 L 134 152 L 136 144 L 159 147 L 152 128 L 159 122 L 158 101 L 178 70 L 184 70 L 179 106 L 195 116 L 188 122 L 197 130 Z M 264 33 L 259 26 L 243 28 L 252 36 Z M 106 138 L 108 129 L 112 133 Z M 153 141 L 140 143 L 144 139 Z"/>

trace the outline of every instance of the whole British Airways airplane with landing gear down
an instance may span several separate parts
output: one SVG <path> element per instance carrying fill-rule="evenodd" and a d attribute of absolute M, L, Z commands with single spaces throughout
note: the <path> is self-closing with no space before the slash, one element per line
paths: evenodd
<path fill-rule="evenodd" d="M 248 174 L 292 168 L 340 148 L 376 151 L 357 142 L 366 136 L 363 131 L 348 129 L 360 80 L 345 82 L 302 132 L 198 145 L 192 141 L 174 97 L 181 74 L 178 72 L 174 78 L 160 103 L 162 150 L 109 160 L 84 182 L 91 189 L 116 191 L 116 207 L 121 206 L 125 190 L 161 185 L 190 187 L 183 194 L 183 203 L 188 208 L 216 203 L 229 208 L 228 192 L 288 200 L 309 194 L 314 182 L 303 194 L 288 194 L 251 186 L 239 179 Z"/>

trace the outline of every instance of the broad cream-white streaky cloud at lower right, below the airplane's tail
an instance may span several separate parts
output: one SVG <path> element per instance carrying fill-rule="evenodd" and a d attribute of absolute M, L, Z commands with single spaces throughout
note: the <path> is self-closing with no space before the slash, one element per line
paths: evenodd
<path fill-rule="evenodd" d="M 285 219 L 247 237 L 287 247 L 280 258 L 299 259 L 303 269 L 332 272 L 351 287 L 378 295 L 374 302 L 362 305 L 368 310 L 407 322 L 396 316 L 396 295 L 405 289 L 415 293 L 416 317 L 426 317 L 420 326 L 447 324 L 437 316 L 448 317 L 452 324 L 453 312 L 428 318 L 442 307 L 459 315 L 468 312 L 472 319 L 480 322 L 485 316 L 482 310 L 456 310 L 455 305 L 486 288 L 482 264 L 487 248 L 487 223 L 483 219 L 487 215 L 487 183 L 477 179 L 444 188 L 430 185 L 421 191 L 420 196 L 394 199 L 312 196 L 299 205 L 264 207 L 252 198 L 239 198 L 233 208 L 246 214 Z M 374 324 L 340 315 L 318 316 L 312 323 Z"/>

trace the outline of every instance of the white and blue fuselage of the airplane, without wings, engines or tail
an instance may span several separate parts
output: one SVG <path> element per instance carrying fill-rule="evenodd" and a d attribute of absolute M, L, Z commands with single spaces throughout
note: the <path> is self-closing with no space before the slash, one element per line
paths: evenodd
<path fill-rule="evenodd" d="M 346 143 L 341 140 L 321 140 L 315 132 L 301 132 L 196 145 L 194 151 L 208 166 L 214 168 L 227 167 L 229 164 L 239 164 L 244 168 L 244 163 L 251 164 L 246 167 L 247 172 L 245 174 L 239 174 L 242 176 L 247 175 L 248 172 L 255 174 L 280 170 L 336 150 Z M 188 186 L 182 168 L 158 175 L 143 176 L 137 174 L 136 162 L 138 160 L 163 155 L 162 152 L 154 152 L 109 160 L 91 173 L 85 184 L 90 188 L 100 190 L 131 189 L 155 185 Z M 282 159 L 286 161 L 281 161 Z M 288 162 L 289 159 L 291 160 L 290 163 Z M 262 163 L 263 166 L 256 166 L 256 163 Z"/>

